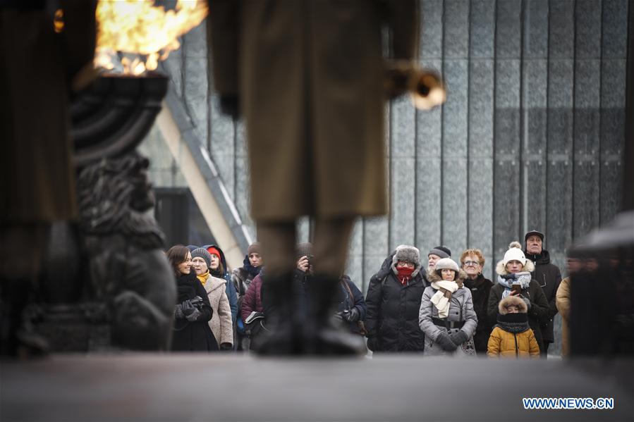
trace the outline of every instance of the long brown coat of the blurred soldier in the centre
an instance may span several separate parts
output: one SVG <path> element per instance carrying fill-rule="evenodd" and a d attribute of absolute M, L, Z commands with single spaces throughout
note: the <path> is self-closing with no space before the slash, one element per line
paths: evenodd
<path fill-rule="evenodd" d="M 247 119 L 253 218 L 386 212 L 382 25 L 409 59 L 417 20 L 417 0 L 210 2 L 214 85 Z"/>

